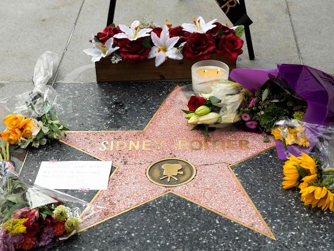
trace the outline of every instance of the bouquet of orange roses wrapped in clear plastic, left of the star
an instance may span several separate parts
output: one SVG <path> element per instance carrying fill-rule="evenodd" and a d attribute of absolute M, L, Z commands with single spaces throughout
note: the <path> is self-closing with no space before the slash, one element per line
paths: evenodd
<path fill-rule="evenodd" d="M 39 147 L 68 130 L 59 118 L 69 121 L 71 100 L 47 85 L 57 61 L 57 54 L 45 52 L 35 65 L 33 91 L 0 100 L 0 106 L 11 113 L 4 119 L 7 129 L 0 136 L 11 145 Z"/>

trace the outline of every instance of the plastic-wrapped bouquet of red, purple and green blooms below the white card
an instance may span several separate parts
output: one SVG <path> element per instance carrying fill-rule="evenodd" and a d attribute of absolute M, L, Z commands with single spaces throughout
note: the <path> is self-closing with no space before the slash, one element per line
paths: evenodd
<path fill-rule="evenodd" d="M 0 250 L 46 247 L 98 220 L 102 208 L 66 193 L 31 185 L 0 160 Z"/>

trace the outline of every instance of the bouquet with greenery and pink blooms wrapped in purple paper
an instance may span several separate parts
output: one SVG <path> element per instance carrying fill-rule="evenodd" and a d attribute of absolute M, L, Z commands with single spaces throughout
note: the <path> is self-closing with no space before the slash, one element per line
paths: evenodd
<path fill-rule="evenodd" d="M 305 133 L 309 134 L 308 137 L 311 137 L 309 138 L 309 145 L 305 141 L 302 144 L 299 142 L 299 145 L 294 145 L 293 147 L 288 146 L 289 151 L 296 156 L 301 156 L 302 151 L 309 152 L 314 147 L 312 137 L 317 134 L 318 129 L 320 130 L 320 126 L 334 122 L 334 77 L 324 73 L 324 71 L 306 65 L 281 64 L 277 66 L 277 69 L 234 69 L 230 77 L 254 94 L 256 90 L 265 86 L 268 81 L 284 89 L 286 92 L 285 97 L 278 97 L 278 99 L 273 97 L 268 100 L 270 88 L 264 88 L 261 90 L 261 98 L 254 99 L 249 104 L 252 111 L 256 112 L 255 115 L 259 117 L 259 123 L 261 121 L 268 122 L 267 129 L 271 129 L 275 122 L 288 115 L 290 118 L 294 117 L 308 124 L 319 125 L 311 126 L 309 129 L 308 127 L 305 128 Z M 290 97 L 294 99 L 291 100 Z M 304 101 L 306 105 L 298 101 L 298 99 Z M 266 101 L 271 104 L 269 103 L 269 106 L 264 105 L 265 109 L 259 111 L 260 114 L 256 109 L 253 109 L 254 103 L 256 106 L 256 102 L 264 103 Z M 279 102 L 282 105 L 275 105 L 279 104 Z M 275 116 L 265 116 L 270 111 L 268 107 L 272 106 L 276 110 L 269 115 L 274 114 Z M 287 112 L 284 112 L 284 110 L 287 110 Z M 282 114 L 283 116 L 273 119 L 277 118 L 277 114 Z M 313 136 L 309 133 L 311 128 L 316 130 L 312 132 Z M 289 137 L 289 135 L 292 134 L 287 131 L 287 136 Z M 276 148 L 281 159 L 286 159 L 286 156 L 289 156 L 285 153 L 286 149 L 282 141 L 276 141 Z M 297 149 L 299 149 L 298 152 L 295 151 Z"/>

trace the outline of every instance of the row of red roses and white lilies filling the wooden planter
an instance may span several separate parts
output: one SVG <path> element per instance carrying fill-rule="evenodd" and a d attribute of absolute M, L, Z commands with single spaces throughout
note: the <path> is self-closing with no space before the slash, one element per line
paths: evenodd
<path fill-rule="evenodd" d="M 159 66 L 167 59 L 209 59 L 212 53 L 224 54 L 236 61 L 243 53 L 244 41 L 240 39 L 243 26 L 229 28 L 215 20 L 208 23 L 200 16 L 193 17 L 192 24 L 172 27 L 168 23 L 157 27 L 151 23 L 135 21 L 130 27 L 120 24 L 107 26 L 102 32 L 92 35 L 91 49 L 84 52 L 92 61 L 111 57 L 112 63 L 121 60 L 127 63 L 155 58 Z"/>

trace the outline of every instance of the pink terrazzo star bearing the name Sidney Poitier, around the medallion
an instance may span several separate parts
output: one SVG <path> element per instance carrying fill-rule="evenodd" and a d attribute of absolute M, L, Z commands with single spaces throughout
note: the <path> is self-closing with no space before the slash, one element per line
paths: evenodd
<path fill-rule="evenodd" d="M 203 132 L 190 131 L 192 126 L 184 119 L 181 109 L 187 109 L 187 102 L 182 88 L 176 86 L 144 131 L 67 133 L 63 139 L 65 144 L 99 159 L 113 160 L 119 167 L 108 189 L 101 190 L 92 202 L 105 207 L 96 224 L 173 192 L 275 239 L 229 168 L 273 147 L 274 140 L 270 137 L 270 142 L 264 143 L 261 134 L 216 130 L 205 142 Z M 178 187 L 162 187 L 149 181 L 146 169 L 162 158 L 191 162 L 197 170 L 194 180 Z"/>

